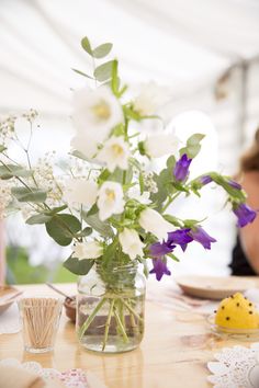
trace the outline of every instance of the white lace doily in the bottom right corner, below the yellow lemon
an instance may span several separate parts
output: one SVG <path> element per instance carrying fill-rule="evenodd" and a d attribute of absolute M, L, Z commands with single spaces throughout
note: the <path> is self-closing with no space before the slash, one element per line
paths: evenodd
<path fill-rule="evenodd" d="M 214 388 L 259 387 L 259 343 L 251 347 L 224 347 L 214 357 L 216 362 L 207 363 L 213 373 L 207 379 Z"/>

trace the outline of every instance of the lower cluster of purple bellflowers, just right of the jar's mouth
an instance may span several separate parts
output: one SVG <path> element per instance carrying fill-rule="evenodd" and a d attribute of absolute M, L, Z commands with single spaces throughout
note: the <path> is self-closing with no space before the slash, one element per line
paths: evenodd
<path fill-rule="evenodd" d="M 180 246 L 182 251 L 184 251 L 192 241 L 198 241 L 205 249 L 211 249 L 211 243 L 216 240 L 201 227 L 178 229 L 169 232 L 167 241 L 155 242 L 149 247 L 150 256 L 154 258 L 154 267 L 150 274 L 156 274 L 157 281 L 160 281 L 164 275 L 170 275 L 165 256 L 171 253 L 177 246 Z"/>

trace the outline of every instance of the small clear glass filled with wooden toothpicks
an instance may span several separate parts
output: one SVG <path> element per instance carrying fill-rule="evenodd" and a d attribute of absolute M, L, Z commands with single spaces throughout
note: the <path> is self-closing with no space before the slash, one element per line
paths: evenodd
<path fill-rule="evenodd" d="M 30 353 L 52 352 L 59 326 L 63 301 L 57 298 L 19 300 L 24 350 Z"/>

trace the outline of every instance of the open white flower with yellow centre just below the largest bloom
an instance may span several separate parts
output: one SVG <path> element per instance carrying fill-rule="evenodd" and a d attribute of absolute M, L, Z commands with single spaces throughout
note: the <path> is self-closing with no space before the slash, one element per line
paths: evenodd
<path fill-rule="evenodd" d="M 128 144 L 122 136 L 112 136 L 98 153 L 98 160 L 105 162 L 108 169 L 113 172 L 116 167 L 127 170 L 127 160 L 130 157 Z"/>

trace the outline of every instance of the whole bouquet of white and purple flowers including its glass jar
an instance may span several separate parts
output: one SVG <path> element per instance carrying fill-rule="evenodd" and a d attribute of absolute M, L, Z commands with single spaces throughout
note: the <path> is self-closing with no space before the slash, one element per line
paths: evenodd
<path fill-rule="evenodd" d="M 204 135 L 194 134 L 183 147 L 172 133 L 142 133 L 136 123 L 159 119 L 154 85 L 136 98 L 119 78 L 117 60 L 103 61 L 112 45 L 92 47 L 81 41 L 92 58 L 93 72 L 75 70 L 95 88 L 75 92 L 76 133 L 68 168 L 60 173 L 49 155 L 33 164 L 30 158 L 35 111 L 23 115 L 30 137 L 21 142 L 14 116 L 0 123 L 0 209 L 23 209 L 26 224 L 45 224 L 60 246 L 71 246 L 66 269 L 81 275 L 77 305 L 77 332 L 89 350 L 124 352 L 136 347 L 144 333 L 145 281 L 170 275 L 167 262 L 177 260 L 198 241 L 205 249 L 216 240 L 201 221 L 180 219 L 169 212 L 179 196 L 196 195 L 214 182 L 244 227 L 256 217 L 241 186 L 216 172 L 189 179 L 192 160 Z M 102 60 L 101 65 L 97 62 Z M 162 125 L 162 119 L 161 119 Z M 11 157 L 19 145 L 25 164 Z M 168 157 L 160 172 L 150 161 Z M 164 159 L 165 160 L 165 159 Z M 148 261 L 151 261 L 151 269 Z M 139 272 L 142 269 L 142 273 Z"/>

